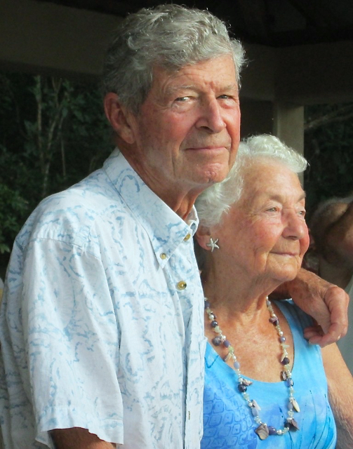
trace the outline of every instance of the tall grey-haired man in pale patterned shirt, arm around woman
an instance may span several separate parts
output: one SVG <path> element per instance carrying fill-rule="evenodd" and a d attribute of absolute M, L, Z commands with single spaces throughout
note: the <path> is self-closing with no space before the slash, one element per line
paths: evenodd
<path fill-rule="evenodd" d="M 13 248 L 0 323 L 6 448 L 199 447 L 193 205 L 234 163 L 242 61 L 239 42 L 205 11 L 159 6 L 119 28 L 104 74 L 119 149 L 44 200 Z M 298 288 L 305 296 L 305 281 Z M 318 288 L 333 322 L 312 336 L 326 343 L 345 320 L 335 322 L 335 287 Z"/>

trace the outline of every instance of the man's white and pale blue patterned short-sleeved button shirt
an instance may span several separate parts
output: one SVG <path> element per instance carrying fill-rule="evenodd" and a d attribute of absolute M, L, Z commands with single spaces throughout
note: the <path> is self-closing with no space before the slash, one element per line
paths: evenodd
<path fill-rule="evenodd" d="M 129 449 L 195 449 L 203 294 L 192 235 L 115 150 L 15 240 L 0 316 L 6 448 L 83 427 Z"/>

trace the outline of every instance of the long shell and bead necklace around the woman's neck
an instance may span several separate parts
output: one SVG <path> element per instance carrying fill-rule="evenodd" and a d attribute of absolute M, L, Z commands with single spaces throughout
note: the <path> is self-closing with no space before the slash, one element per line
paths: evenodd
<path fill-rule="evenodd" d="M 295 412 L 300 412 L 298 402 L 295 401 L 295 398 L 293 396 L 294 394 L 293 380 L 291 369 L 289 367 L 289 358 L 287 351 L 287 348 L 289 346 L 288 344 L 286 344 L 286 337 L 284 337 L 284 333 L 282 332 L 281 327 L 279 326 L 279 319 L 277 315 L 274 313 L 274 309 L 272 308 L 272 304 L 269 301 L 268 297 L 266 297 L 266 305 L 269 311 L 269 322 L 273 323 L 279 335 L 279 343 L 281 345 L 282 350 L 281 364 L 284 366 L 284 370 L 281 371 L 281 380 L 286 382 L 289 393 L 288 417 L 286 418 L 286 421 L 284 422 L 284 427 L 282 429 L 275 429 L 274 427 L 267 425 L 265 422 L 261 421 L 259 416 L 259 411 L 261 410 L 261 408 L 260 406 L 258 406 L 258 403 L 255 401 L 255 399 L 250 398 L 247 391 L 248 387 L 253 382 L 244 379 L 243 375 L 241 375 L 240 363 L 239 361 L 237 361 L 237 357 L 234 354 L 234 347 L 232 347 L 232 344 L 230 344 L 229 340 L 227 340 L 227 337 L 222 333 L 222 330 L 218 325 L 218 321 L 216 321 L 216 316 L 210 308 L 211 304 L 205 297 L 206 314 L 208 315 L 208 319 L 211 321 L 211 327 L 213 328 L 213 331 L 217 334 L 213 338 L 212 342 L 215 346 L 220 346 L 220 344 L 222 344 L 225 348 L 227 348 L 228 354 L 227 356 L 225 356 L 223 360 L 225 361 L 225 363 L 227 363 L 227 361 L 229 360 L 232 360 L 233 362 L 234 370 L 238 375 L 237 389 L 239 393 L 243 396 L 244 401 L 246 401 L 249 409 L 251 410 L 251 414 L 253 416 L 254 421 L 256 422 L 256 424 L 258 424 L 258 427 L 256 427 L 255 429 L 255 432 L 256 434 L 258 434 L 261 440 L 265 440 L 269 435 L 285 435 L 290 430 L 299 430 L 298 423 L 294 419 L 294 414 Z"/>

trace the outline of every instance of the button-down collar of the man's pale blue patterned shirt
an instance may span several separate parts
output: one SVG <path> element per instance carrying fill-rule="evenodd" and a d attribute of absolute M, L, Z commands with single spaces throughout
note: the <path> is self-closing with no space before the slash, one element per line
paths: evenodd
<path fill-rule="evenodd" d="M 135 219 L 149 235 L 161 267 L 164 267 L 181 243 L 185 244 L 188 240 L 192 243 L 192 236 L 199 225 L 194 206 L 187 220 L 182 220 L 149 189 L 117 148 L 105 161 L 103 169 Z"/>

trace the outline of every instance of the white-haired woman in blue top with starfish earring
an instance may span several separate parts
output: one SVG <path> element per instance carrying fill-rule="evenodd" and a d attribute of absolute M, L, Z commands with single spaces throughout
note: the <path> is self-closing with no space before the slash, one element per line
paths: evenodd
<path fill-rule="evenodd" d="M 268 299 L 307 250 L 306 166 L 277 138 L 250 138 L 227 179 L 197 201 L 208 338 L 202 449 L 335 448 L 335 420 L 337 447 L 353 447 L 353 380 L 336 345 L 308 344 L 309 316 Z"/>

